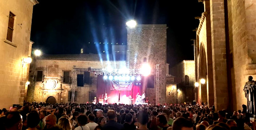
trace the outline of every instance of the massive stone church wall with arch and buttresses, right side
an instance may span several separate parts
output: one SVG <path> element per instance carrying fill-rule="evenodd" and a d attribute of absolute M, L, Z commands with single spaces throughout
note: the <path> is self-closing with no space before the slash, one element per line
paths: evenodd
<path fill-rule="evenodd" d="M 198 100 L 208 101 L 217 110 L 241 110 L 246 103 L 243 86 L 256 76 L 256 1 L 202 0 L 195 41 Z"/>

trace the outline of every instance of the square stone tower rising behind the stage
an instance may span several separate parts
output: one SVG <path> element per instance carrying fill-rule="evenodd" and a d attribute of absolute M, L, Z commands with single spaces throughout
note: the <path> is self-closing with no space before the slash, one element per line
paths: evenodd
<path fill-rule="evenodd" d="M 166 95 L 166 24 L 141 24 L 127 28 L 126 62 L 130 69 L 139 69 L 147 62 L 154 75 L 156 88 L 156 64 L 159 64 L 159 102 L 165 103 Z M 147 88 L 147 86 L 146 86 Z M 156 100 L 156 90 L 147 88 L 146 94 L 150 102 Z"/>

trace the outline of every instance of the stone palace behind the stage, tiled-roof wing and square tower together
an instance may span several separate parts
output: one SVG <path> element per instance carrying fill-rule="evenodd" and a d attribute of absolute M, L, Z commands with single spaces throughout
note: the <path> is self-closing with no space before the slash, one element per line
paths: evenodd
<path fill-rule="evenodd" d="M 108 60 L 106 54 L 79 54 L 79 55 L 45 55 L 36 57 L 31 64 L 30 78 L 33 82 L 29 86 L 28 101 L 46 102 L 49 97 L 54 97 L 57 103 L 70 102 L 69 92 L 72 84 L 65 84 L 61 77 L 64 71 L 69 71 L 71 79 L 73 66 L 76 68 L 129 68 L 139 69 L 145 63 L 150 65 L 154 76 L 154 88 L 147 88 L 146 92 L 150 102 L 156 101 L 156 64 L 159 64 L 159 103 L 165 103 L 166 99 L 166 29 L 163 25 L 137 25 L 134 28 L 127 27 L 127 49 L 124 59 Z M 116 55 L 116 54 L 115 54 Z M 100 57 L 104 57 L 101 58 Z M 37 81 L 37 73 L 43 77 Z M 68 73 L 68 72 L 65 72 Z M 78 74 L 79 71 L 76 71 Z M 90 73 L 91 84 L 77 87 L 77 103 L 89 101 L 89 93 L 97 91 L 97 76 Z M 47 82 L 46 82 L 47 81 Z M 48 83 L 48 82 L 51 83 Z M 70 83 L 70 82 L 68 82 Z M 50 85 L 49 85 L 50 84 Z M 50 86 L 50 88 L 49 88 Z M 54 87 L 52 87 L 54 86 Z M 175 98 L 176 100 L 176 98 Z"/>

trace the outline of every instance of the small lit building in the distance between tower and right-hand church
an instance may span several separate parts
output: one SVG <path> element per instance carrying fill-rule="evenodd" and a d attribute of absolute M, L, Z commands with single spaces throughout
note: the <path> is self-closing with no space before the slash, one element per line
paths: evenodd
<path fill-rule="evenodd" d="M 177 83 L 177 102 L 192 103 L 195 100 L 195 61 L 183 60 L 171 68 Z"/>

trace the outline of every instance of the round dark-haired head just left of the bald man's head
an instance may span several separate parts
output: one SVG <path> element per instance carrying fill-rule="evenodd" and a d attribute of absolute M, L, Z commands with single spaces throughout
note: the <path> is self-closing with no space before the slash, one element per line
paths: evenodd
<path fill-rule="evenodd" d="M 37 113 L 30 113 L 27 116 L 27 125 L 29 128 L 35 128 L 40 122 L 40 117 Z"/>

